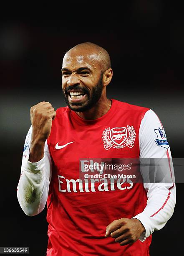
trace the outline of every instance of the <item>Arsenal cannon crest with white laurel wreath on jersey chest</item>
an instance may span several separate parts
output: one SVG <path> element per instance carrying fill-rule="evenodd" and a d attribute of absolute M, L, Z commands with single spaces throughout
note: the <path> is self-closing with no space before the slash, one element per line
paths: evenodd
<path fill-rule="evenodd" d="M 106 150 L 110 148 L 124 148 L 128 146 L 132 148 L 136 138 L 134 127 L 126 125 L 127 127 L 108 127 L 103 131 L 103 144 Z M 128 138 L 127 138 L 128 137 Z"/>

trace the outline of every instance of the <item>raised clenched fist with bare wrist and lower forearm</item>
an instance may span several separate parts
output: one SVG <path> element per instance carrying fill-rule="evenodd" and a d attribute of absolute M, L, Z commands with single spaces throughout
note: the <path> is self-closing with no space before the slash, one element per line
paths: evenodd
<path fill-rule="evenodd" d="M 30 109 L 33 131 L 31 136 L 29 161 L 37 162 L 43 158 L 45 141 L 50 135 L 55 110 L 48 101 L 43 101 Z"/>

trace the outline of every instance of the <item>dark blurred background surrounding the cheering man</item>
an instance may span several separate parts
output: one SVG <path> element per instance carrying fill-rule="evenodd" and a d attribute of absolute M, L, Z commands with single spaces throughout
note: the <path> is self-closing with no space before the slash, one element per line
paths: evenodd
<path fill-rule="evenodd" d="M 92 14 L 77 12 L 73 21 L 69 12 L 66 17 L 62 13 L 53 18 L 1 20 L 0 246 L 28 246 L 30 255 L 45 255 L 46 210 L 26 216 L 16 187 L 30 107 L 40 101 L 49 101 L 54 108 L 65 105 L 60 69 L 64 54 L 76 44 L 89 41 L 109 52 L 113 80 L 108 97 L 154 110 L 173 158 L 183 157 L 184 8 L 179 3 L 134 0 L 119 13 L 118 6 L 111 13 L 96 6 Z M 172 255 L 183 248 L 183 189 L 183 184 L 177 185 L 174 215 L 154 232 L 150 255 Z"/>

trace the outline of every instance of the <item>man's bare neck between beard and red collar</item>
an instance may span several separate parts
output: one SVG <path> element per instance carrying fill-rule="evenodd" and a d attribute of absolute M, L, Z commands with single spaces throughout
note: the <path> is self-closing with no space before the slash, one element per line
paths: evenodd
<path fill-rule="evenodd" d="M 76 112 L 81 118 L 86 120 L 94 120 L 100 118 L 101 116 L 105 115 L 108 110 L 111 108 L 112 102 L 108 100 L 106 95 L 100 97 L 96 105 L 85 111 L 85 112 Z"/>

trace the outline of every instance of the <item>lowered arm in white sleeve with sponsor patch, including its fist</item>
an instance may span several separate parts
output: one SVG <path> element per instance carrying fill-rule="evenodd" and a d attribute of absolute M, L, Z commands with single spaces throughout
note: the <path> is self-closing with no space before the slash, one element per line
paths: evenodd
<path fill-rule="evenodd" d="M 121 246 L 133 243 L 137 239 L 142 242 L 145 241 L 154 230 L 164 227 L 174 211 L 176 192 L 173 182 L 174 172 L 171 153 L 166 136 L 163 144 L 161 144 L 161 141 L 155 141 L 158 139 L 157 133 L 160 134 L 159 128 L 161 128 L 160 133 L 164 132 L 156 114 L 152 110 L 147 111 L 141 121 L 139 130 L 140 163 L 145 164 L 147 161 L 155 161 L 158 165 L 153 170 L 149 165 L 141 167 L 141 174 L 144 181 L 146 181 L 144 188 L 148 197 L 144 211 L 132 219 L 114 220 L 106 228 L 106 236 L 115 238 L 115 241 L 120 243 Z M 164 136 L 164 134 L 162 135 Z M 151 174 L 153 174 L 153 171 L 154 174 L 155 172 L 157 174 L 154 175 L 154 180 L 151 179 L 151 181 L 150 171 Z"/>

